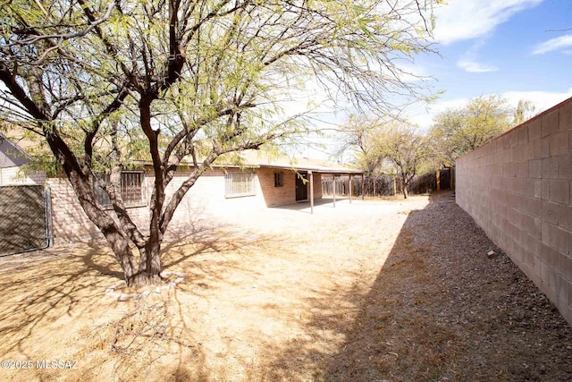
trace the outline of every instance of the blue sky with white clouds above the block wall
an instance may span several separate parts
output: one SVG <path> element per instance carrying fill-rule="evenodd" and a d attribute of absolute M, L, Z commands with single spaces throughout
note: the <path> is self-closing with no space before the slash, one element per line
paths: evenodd
<path fill-rule="evenodd" d="M 411 66 L 433 77 L 426 83 L 442 94 L 429 106 L 408 107 L 410 122 L 428 130 L 435 115 L 480 96 L 500 95 L 514 107 L 530 100 L 535 114 L 572 97 L 572 0 L 447 3 L 434 9 L 433 48 L 439 55 L 416 56 Z M 335 151 L 335 143 L 322 143 L 325 148 L 300 154 Z"/>

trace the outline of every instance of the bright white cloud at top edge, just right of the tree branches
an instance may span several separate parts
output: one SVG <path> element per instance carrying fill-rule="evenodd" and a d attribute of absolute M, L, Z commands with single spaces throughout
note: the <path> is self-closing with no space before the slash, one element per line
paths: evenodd
<path fill-rule="evenodd" d="M 449 45 L 455 41 L 486 36 L 510 17 L 543 0 L 451 0 L 435 9 L 434 37 Z"/>

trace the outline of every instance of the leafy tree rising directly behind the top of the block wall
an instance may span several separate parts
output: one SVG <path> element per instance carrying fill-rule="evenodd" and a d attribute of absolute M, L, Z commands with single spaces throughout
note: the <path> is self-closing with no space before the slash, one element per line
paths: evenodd
<path fill-rule="evenodd" d="M 477 97 L 467 106 L 437 115 L 429 132 L 435 156 L 442 166 L 454 166 L 455 160 L 512 126 L 511 109 L 499 96 Z"/>

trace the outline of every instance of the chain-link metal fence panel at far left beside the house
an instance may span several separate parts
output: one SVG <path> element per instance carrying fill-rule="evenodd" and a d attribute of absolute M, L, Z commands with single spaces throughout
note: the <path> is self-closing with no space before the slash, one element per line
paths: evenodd
<path fill-rule="evenodd" d="M 0 187 L 0 256 L 46 248 L 53 238 L 48 187 Z"/>

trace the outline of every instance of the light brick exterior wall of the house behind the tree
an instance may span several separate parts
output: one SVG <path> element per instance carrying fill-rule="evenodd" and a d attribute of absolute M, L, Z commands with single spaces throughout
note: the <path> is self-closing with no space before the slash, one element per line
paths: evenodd
<path fill-rule="evenodd" d="M 238 171 L 238 170 L 228 170 Z M 274 172 L 282 171 L 284 184 L 274 187 Z M 181 170 L 173 178 L 166 189 L 169 196 L 176 191 L 189 175 Z M 212 171 L 198 178 L 197 183 L 190 188 L 181 200 L 179 207 L 172 217 L 170 227 L 188 227 L 199 219 L 220 217 L 226 215 L 247 214 L 257 208 L 279 206 L 296 201 L 295 174 L 290 170 L 274 170 L 260 168 L 257 170 L 256 195 L 239 198 L 226 198 L 224 191 L 223 171 Z M 146 173 L 144 190 L 147 191 L 147 205 L 151 198 L 154 177 Z M 46 181 L 52 189 L 52 210 L 54 221 L 55 243 L 78 242 L 90 238 L 103 238 L 96 225 L 89 221 L 77 200 L 71 184 L 64 177 L 48 178 Z M 314 174 L 315 199 L 322 197 L 320 174 Z M 308 191 L 309 195 L 309 191 Z M 141 229 L 147 229 L 149 211 L 146 206 L 129 208 L 130 216 Z"/>

